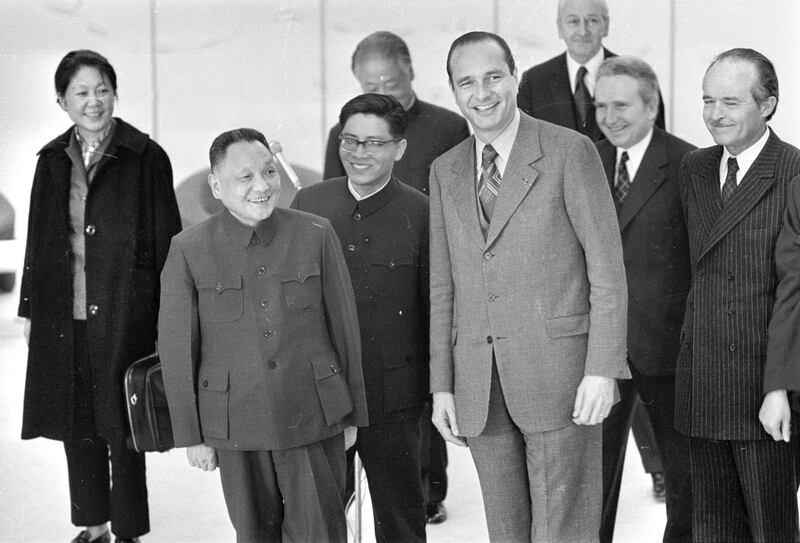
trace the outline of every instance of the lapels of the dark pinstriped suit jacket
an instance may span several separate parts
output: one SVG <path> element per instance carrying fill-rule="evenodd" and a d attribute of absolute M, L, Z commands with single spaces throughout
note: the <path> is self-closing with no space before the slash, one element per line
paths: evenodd
<path fill-rule="evenodd" d="M 733 196 L 722 208 L 714 227 L 709 232 L 703 245 L 703 250 L 700 253 L 701 258 L 715 243 L 730 232 L 775 184 L 775 162 L 778 156 L 779 142 L 778 137 L 774 133 L 770 133 L 767 144 L 761 150 L 753 165 L 750 166 L 750 169 L 744 174 Z M 720 148 L 719 158 L 721 157 L 722 149 Z M 716 161 L 717 189 L 719 189 L 719 158 Z"/>

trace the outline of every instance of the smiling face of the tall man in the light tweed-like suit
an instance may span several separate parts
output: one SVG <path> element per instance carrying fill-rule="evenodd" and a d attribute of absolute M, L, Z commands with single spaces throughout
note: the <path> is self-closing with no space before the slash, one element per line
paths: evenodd
<path fill-rule="evenodd" d="M 491 143 L 517 109 L 519 81 L 509 71 L 502 48 L 491 40 L 460 46 L 450 57 L 450 74 L 458 108 L 475 135 Z"/>

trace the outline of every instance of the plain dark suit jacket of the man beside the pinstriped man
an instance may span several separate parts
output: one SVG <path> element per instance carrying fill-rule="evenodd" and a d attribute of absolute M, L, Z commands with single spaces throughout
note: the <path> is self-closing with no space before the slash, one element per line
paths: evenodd
<path fill-rule="evenodd" d="M 692 279 L 678 176 L 684 155 L 694 149 L 655 127 L 618 211 L 628 281 L 628 356 L 644 375 L 675 374 Z M 603 140 L 597 151 L 613 191 L 617 148 Z"/>

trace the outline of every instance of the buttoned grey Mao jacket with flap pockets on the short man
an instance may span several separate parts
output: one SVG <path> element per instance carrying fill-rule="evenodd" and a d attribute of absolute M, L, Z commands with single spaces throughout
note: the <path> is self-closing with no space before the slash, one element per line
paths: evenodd
<path fill-rule="evenodd" d="M 276 450 L 366 426 L 361 342 L 339 240 L 321 217 L 227 210 L 172 239 L 159 353 L 175 445 Z"/>

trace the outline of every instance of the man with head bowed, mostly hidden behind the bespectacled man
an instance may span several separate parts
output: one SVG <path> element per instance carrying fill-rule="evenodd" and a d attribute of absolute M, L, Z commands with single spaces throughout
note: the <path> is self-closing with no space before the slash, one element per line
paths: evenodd
<path fill-rule="evenodd" d="M 374 32 L 361 40 L 353 52 L 353 75 L 363 92 L 394 96 L 408 114 L 405 140 L 407 149 L 394 164 L 394 176 L 403 183 L 428 194 L 428 173 L 433 160 L 469 136 L 463 117 L 439 106 L 423 102 L 414 93 L 411 82 L 414 69 L 406 43 L 391 32 Z M 323 179 L 346 174 L 339 157 L 339 134 L 336 123 L 328 135 Z M 427 421 L 430 402 L 426 405 Z M 429 524 L 444 522 L 447 511 L 447 448 L 432 424 L 422 427 L 422 481 Z"/>

